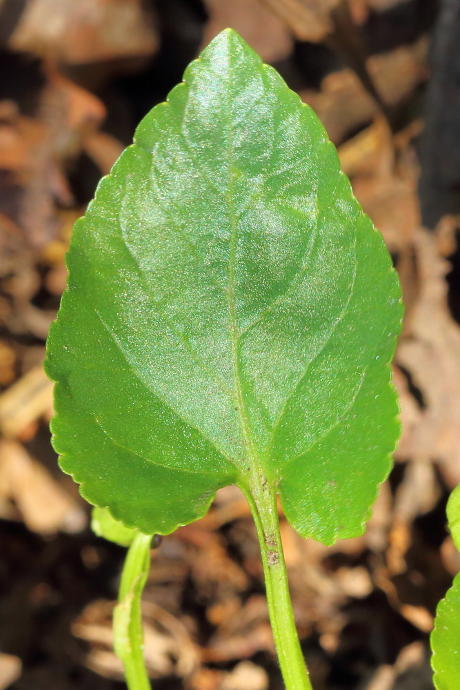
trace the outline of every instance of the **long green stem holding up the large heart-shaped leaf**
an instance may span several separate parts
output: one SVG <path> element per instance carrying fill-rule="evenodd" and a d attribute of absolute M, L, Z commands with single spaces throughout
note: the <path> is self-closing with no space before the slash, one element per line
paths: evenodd
<path fill-rule="evenodd" d="M 276 489 L 261 477 L 243 492 L 250 504 L 259 537 L 270 623 L 286 690 L 312 690 L 290 600 L 279 533 Z"/>

